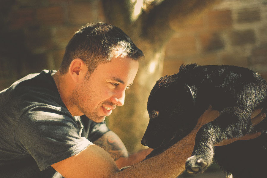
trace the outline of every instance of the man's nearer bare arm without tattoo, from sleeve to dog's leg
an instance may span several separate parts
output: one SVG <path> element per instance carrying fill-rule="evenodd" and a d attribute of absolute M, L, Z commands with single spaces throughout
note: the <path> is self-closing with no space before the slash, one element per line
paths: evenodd
<path fill-rule="evenodd" d="M 163 153 L 119 171 L 113 158 L 97 145 L 89 145 L 80 153 L 52 165 L 64 177 L 177 177 L 185 169 L 191 156 L 199 128 L 215 119 L 212 112 L 205 112 L 199 124 L 186 137 Z M 205 117 L 207 119 L 205 119 Z"/>

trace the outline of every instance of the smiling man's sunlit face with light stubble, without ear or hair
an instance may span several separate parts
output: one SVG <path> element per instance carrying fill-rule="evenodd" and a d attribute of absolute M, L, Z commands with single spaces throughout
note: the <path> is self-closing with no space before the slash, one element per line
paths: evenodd
<path fill-rule="evenodd" d="M 76 85 L 72 99 L 78 109 L 94 122 L 102 122 L 116 106 L 124 104 L 125 90 L 132 85 L 138 61 L 127 56 L 114 57 L 99 64 L 82 83 Z"/>

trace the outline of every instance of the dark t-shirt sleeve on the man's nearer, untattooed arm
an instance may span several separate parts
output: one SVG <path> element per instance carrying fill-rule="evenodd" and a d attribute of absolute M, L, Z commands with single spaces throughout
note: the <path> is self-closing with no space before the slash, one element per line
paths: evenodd
<path fill-rule="evenodd" d="M 14 134 L 17 147 L 30 154 L 41 171 L 91 144 L 79 136 L 77 122 L 66 113 L 50 106 L 37 106 L 18 120 Z"/>

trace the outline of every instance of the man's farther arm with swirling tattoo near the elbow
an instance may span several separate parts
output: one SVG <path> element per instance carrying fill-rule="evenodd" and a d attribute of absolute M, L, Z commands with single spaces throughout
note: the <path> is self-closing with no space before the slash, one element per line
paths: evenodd
<path fill-rule="evenodd" d="M 113 131 L 106 132 L 93 143 L 107 151 L 119 168 L 123 166 L 131 166 L 132 164 L 142 161 L 153 150 L 147 148 L 129 155 L 124 143 Z"/>

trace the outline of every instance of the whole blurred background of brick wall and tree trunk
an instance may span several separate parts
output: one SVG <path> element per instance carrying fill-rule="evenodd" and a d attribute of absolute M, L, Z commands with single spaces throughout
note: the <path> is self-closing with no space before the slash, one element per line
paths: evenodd
<path fill-rule="evenodd" d="M 132 38 L 145 59 L 124 106 L 106 119 L 130 153 L 144 148 L 151 88 L 181 64 L 236 65 L 267 79 L 267 0 L 0 0 L 0 14 L 0 90 L 58 69 L 68 41 L 87 23 L 108 22 Z M 214 164 L 195 177 L 225 175 Z"/>

